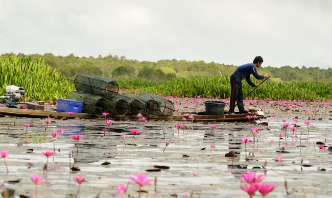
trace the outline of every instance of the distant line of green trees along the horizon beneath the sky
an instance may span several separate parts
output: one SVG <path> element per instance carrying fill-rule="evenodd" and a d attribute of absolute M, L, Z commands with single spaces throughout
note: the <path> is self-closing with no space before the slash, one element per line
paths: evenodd
<path fill-rule="evenodd" d="M 15 56 L 14 53 L 2 54 L 4 56 Z M 77 57 L 73 54 L 68 56 L 54 56 L 52 53 L 40 54 L 17 54 L 18 57 L 31 57 L 33 60 L 43 59 L 56 71 L 68 79 L 75 78 L 78 73 L 89 73 L 109 79 L 148 79 L 152 81 L 163 81 L 174 78 L 186 77 L 208 77 L 208 76 L 230 76 L 238 67 L 221 63 L 185 60 L 159 60 L 157 62 L 138 61 L 127 59 L 124 56 L 108 55 L 105 57 Z M 302 81 L 332 81 L 332 69 L 321 69 L 319 67 L 282 66 L 261 67 L 260 75 L 270 74 L 272 81 L 280 82 L 302 82 Z"/>

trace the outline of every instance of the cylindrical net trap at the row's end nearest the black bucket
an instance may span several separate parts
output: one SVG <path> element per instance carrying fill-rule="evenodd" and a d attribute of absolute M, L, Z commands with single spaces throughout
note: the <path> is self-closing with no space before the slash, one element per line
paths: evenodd
<path fill-rule="evenodd" d="M 161 97 L 159 95 L 153 94 L 153 93 L 140 93 L 139 95 L 152 98 L 159 104 L 159 111 L 158 115 L 164 115 L 164 116 L 170 116 L 173 115 L 173 112 L 175 111 L 173 103 L 168 100 L 167 98 Z"/>

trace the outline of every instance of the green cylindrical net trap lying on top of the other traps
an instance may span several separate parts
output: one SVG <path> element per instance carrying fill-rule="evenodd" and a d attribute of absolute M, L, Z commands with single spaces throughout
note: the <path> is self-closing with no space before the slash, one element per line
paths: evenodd
<path fill-rule="evenodd" d="M 115 80 L 91 76 L 86 73 L 79 73 L 74 84 L 78 91 L 86 93 L 113 97 L 118 92 L 118 84 Z"/>

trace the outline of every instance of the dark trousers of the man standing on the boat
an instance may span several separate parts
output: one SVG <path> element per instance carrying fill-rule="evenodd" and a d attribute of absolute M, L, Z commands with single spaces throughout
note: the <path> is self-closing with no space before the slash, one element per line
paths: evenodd
<path fill-rule="evenodd" d="M 230 79 L 230 101 L 229 101 L 229 113 L 234 113 L 235 101 L 238 103 L 238 108 L 240 113 L 248 113 L 243 106 L 243 92 L 242 83 L 237 83 L 232 78 Z"/>

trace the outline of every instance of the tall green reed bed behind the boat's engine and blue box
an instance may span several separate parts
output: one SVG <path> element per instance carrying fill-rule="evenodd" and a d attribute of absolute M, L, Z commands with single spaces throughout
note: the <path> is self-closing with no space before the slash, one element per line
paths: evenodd
<path fill-rule="evenodd" d="M 28 57 L 0 57 L 0 93 L 6 93 L 6 86 L 25 87 L 28 100 L 57 101 L 65 98 L 75 89 L 74 83 L 67 81 L 43 60 Z"/>

